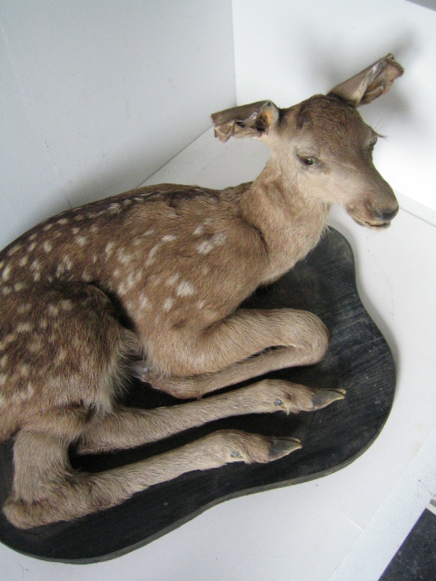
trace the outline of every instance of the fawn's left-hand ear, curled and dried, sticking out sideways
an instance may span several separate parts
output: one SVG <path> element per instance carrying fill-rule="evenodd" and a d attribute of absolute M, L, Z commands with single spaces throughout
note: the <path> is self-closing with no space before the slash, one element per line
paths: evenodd
<path fill-rule="evenodd" d="M 279 109 L 271 101 L 233 107 L 211 115 L 215 137 L 226 142 L 231 137 L 261 137 L 279 121 Z"/>

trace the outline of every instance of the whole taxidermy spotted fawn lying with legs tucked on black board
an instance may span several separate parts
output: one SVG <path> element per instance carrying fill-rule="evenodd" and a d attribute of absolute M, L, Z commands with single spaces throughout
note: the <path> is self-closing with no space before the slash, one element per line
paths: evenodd
<path fill-rule="evenodd" d="M 0 253 L 0 440 L 15 438 L 3 510 L 15 527 L 112 507 L 189 470 L 301 448 L 292 438 L 222 430 L 98 474 L 75 472 L 68 460 L 71 445 L 83 454 L 135 447 L 213 419 L 312 411 L 344 397 L 262 379 L 201 399 L 322 359 L 328 331 L 312 313 L 239 306 L 312 250 L 332 203 L 360 224 L 389 226 L 398 203 L 372 164 L 377 133 L 356 107 L 402 72 L 389 54 L 289 109 L 265 101 L 214 113 L 222 141 L 271 146 L 254 182 L 140 188 L 64 212 Z M 195 400 L 124 407 L 132 376 Z"/>

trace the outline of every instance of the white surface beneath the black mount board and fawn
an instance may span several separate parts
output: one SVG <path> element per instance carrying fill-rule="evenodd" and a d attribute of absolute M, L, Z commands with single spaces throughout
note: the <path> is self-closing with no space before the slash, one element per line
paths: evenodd
<path fill-rule="evenodd" d="M 147 183 L 219 188 L 253 179 L 266 157 L 261 143 L 218 143 L 209 131 Z M 0 545 L 0 579 L 376 581 L 436 493 L 436 222 L 399 198 L 407 212 L 386 231 L 332 212 L 398 365 L 391 416 L 361 458 L 326 478 L 225 502 L 101 564 L 39 561 Z"/>

